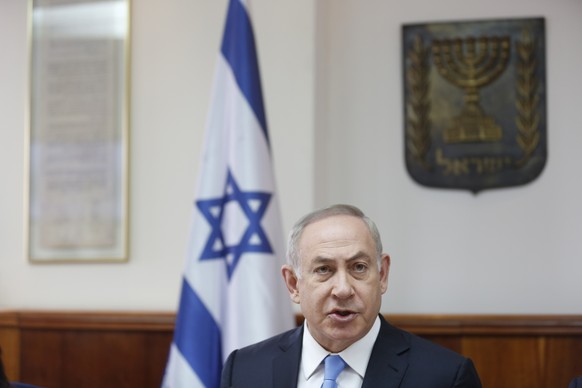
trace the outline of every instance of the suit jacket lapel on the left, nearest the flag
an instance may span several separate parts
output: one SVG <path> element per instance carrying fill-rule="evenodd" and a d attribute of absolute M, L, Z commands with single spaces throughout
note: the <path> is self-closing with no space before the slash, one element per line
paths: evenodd
<path fill-rule="evenodd" d="M 302 345 L 303 325 L 281 339 L 281 352 L 273 358 L 273 387 L 297 387 Z"/>

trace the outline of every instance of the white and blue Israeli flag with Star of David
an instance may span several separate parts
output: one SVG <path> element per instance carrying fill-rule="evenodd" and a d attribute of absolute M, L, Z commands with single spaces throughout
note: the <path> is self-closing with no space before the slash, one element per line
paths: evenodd
<path fill-rule="evenodd" d="M 230 0 L 162 387 L 218 387 L 234 349 L 294 326 L 246 3 Z"/>

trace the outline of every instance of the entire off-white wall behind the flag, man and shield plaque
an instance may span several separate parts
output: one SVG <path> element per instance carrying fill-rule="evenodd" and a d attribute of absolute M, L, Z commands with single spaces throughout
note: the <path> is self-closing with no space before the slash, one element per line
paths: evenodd
<path fill-rule="evenodd" d="M 383 311 L 582 313 L 582 2 L 252 0 L 283 222 L 351 202 L 393 265 Z M 226 1 L 133 0 L 131 257 L 24 257 L 26 1 L 0 0 L 0 308 L 173 310 Z M 546 17 L 549 159 L 468 192 L 408 177 L 403 22 Z"/>

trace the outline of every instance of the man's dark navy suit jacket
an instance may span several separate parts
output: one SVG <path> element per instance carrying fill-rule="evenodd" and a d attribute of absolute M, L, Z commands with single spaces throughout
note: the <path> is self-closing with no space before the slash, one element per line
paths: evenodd
<path fill-rule="evenodd" d="M 481 387 L 471 360 L 380 320 L 362 388 Z M 302 338 L 303 326 L 235 350 L 221 387 L 296 388 Z"/>

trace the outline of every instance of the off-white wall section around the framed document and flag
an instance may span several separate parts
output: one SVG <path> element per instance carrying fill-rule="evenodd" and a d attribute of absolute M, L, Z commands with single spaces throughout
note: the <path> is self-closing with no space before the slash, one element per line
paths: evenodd
<path fill-rule="evenodd" d="M 24 251 L 27 3 L 0 0 L 0 308 L 174 310 L 227 1 L 133 0 L 131 257 L 58 265 Z M 313 206 L 314 11 L 252 7 L 288 229 Z"/>

